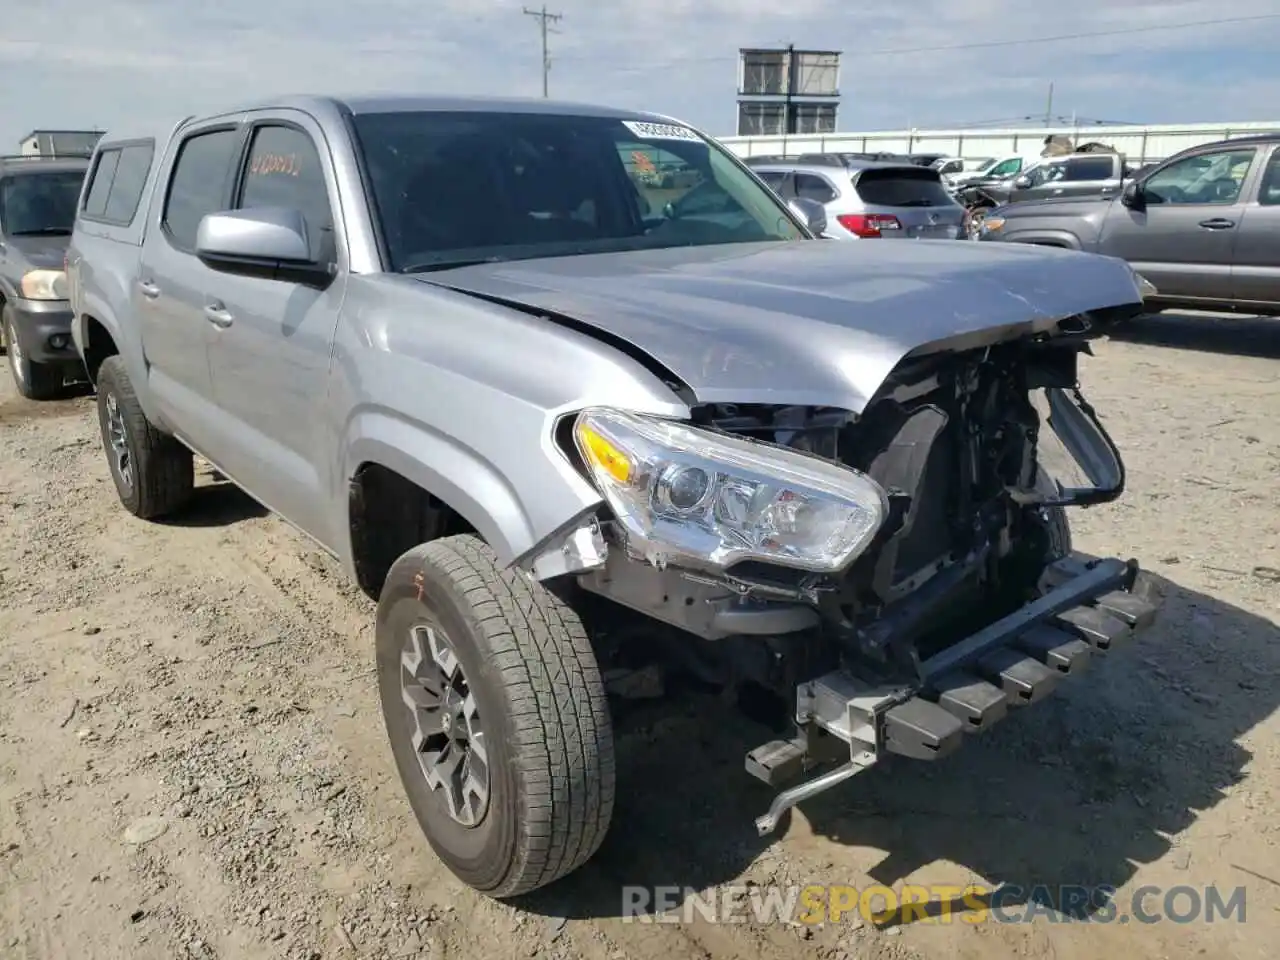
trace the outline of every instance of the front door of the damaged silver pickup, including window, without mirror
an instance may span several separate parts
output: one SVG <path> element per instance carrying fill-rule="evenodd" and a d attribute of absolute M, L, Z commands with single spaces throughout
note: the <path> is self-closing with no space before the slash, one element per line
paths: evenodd
<path fill-rule="evenodd" d="M 317 146 L 320 145 L 320 146 Z M 252 118 L 234 189 L 236 209 L 289 207 L 302 214 L 311 255 L 339 264 L 326 288 L 259 276 L 212 274 L 202 308 L 219 319 L 209 348 L 214 396 L 237 442 L 223 465 L 270 508 L 329 548 L 325 525 L 330 458 L 342 424 L 328 416 L 329 364 L 346 291 L 337 236 L 337 183 L 321 157 L 324 134 L 296 111 Z"/>

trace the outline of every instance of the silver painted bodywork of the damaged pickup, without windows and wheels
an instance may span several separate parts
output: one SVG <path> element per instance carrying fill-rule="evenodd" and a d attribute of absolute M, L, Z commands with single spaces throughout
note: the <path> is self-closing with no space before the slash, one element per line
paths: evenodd
<path fill-rule="evenodd" d="M 134 223 L 78 223 L 73 238 L 81 349 L 91 324 L 106 330 L 148 417 L 352 573 L 349 488 L 366 463 L 445 500 L 503 562 L 531 559 L 599 503 L 554 440 L 562 417 L 689 415 L 653 361 L 699 401 L 860 410 L 913 351 L 1138 300 L 1119 261 L 972 243 L 801 239 L 388 274 L 344 116 L 453 109 L 668 119 L 540 100 L 292 99 L 179 124 L 157 140 Z M 215 271 L 161 229 L 182 138 L 260 120 L 303 129 L 321 157 L 337 239 L 323 289 Z M 157 293 L 140 298 L 142 280 Z M 215 305 L 224 323 L 209 321 Z"/>

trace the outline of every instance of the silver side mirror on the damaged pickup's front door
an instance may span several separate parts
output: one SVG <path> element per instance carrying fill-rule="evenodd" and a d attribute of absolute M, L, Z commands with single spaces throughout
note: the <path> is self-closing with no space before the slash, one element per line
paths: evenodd
<path fill-rule="evenodd" d="M 196 230 L 196 256 L 214 270 L 297 283 L 328 283 L 333 265 L 317 262 L 307 223 L 288 207 L 207 214 Z"/>

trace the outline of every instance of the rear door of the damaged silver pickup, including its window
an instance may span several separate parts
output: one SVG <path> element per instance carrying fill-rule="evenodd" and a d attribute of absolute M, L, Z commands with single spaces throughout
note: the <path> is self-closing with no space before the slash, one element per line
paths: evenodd
<path fill-rule="evenodd" d="M 228 205 L 239 138 L 236 122 L 200 124 L 175 138 L 132 292 L 151 393 L 174 429 L 207 457 L 218 456 L 212 328 L 204 311 L 211 271 L 196 257 L 196 229 L 206 214 Z"/>

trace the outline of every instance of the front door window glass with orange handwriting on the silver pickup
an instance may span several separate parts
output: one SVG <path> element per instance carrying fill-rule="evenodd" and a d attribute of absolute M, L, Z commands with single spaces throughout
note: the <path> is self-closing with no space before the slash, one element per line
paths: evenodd
<path fill-rule="evenodd" d="M 333 259 L 333 212 L 324 166 L 311 137 L 302 131 L 293 127 L 255 131 L 237 206 L 297 210 L 307 224 L 312 257 Z"/>

